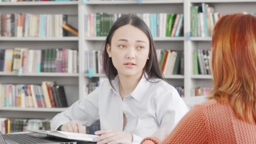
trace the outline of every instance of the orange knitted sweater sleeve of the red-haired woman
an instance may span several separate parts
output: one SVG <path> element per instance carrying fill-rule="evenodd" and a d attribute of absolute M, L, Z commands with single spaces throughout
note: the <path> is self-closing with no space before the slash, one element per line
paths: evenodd
<path fill-rule="evenodd" d="M 163 144 L 206 144 L 208 133 L 202 106 L 193 107 L 163 141 Z"/>

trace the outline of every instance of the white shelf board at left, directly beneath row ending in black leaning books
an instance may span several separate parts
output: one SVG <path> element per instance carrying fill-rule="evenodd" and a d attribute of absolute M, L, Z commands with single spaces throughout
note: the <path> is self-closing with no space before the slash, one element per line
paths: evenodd
<path fill-rule="evenodd" d="M 63 112 L 67 108 L 20 108 L 20 107 L 0 107 L 0 111 L 24 111 L 24 112 Z"/>

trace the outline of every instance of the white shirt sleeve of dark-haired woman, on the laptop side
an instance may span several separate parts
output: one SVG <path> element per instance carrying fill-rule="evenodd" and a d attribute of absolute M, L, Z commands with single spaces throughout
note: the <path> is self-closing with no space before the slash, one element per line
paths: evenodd
<path fill-rule="evenodd" d="M 84 99 L 76 101 L 64 112 L 57 114 L 51 120 L 51 130 L 69 121 L 80 121 L 84 126 L 90 126 L 99 120 L 99 88 L 88 94 Z"/>

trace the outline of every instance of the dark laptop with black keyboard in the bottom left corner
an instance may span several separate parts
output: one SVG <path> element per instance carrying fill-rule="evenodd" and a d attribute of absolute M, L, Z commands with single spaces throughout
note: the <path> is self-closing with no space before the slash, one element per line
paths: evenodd
<path fill-rule="evenodd" d="M 70 141 L 47 136 L 41 133 L 3 134 L 0 131 L 0 144 L 80 144 L 78 141 Z"/>

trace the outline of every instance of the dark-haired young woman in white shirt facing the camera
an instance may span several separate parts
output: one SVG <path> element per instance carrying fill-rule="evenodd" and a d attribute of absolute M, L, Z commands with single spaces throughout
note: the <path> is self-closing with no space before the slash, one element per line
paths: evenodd
<path fill-rule="evenodd" d="M 109 80 L 56 115 L 52 130 L 82 133 L 82 125 L 100 120 L 97 144 L 140 142 L 152 135 L 163 139 L 187 113 L 179 93 L 163 80 L 152 35 L 138 16 L 125 15 L 113 24 L 104 68 Z"/>

